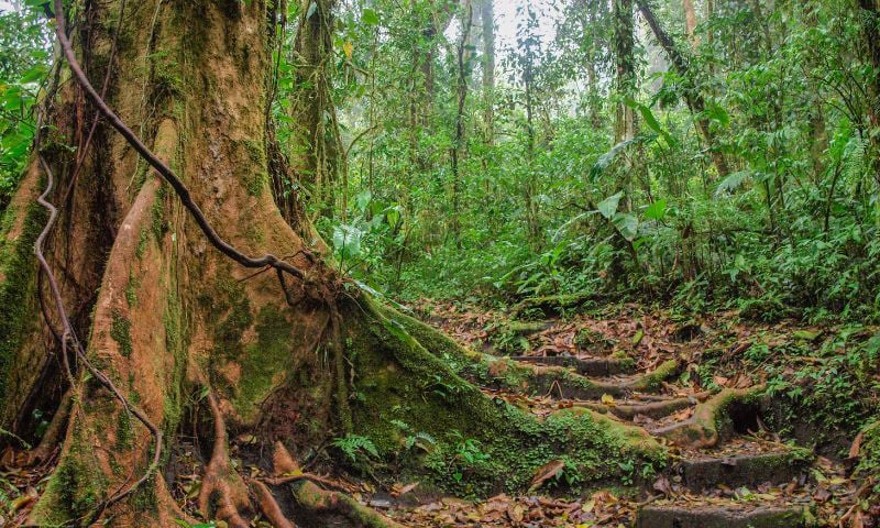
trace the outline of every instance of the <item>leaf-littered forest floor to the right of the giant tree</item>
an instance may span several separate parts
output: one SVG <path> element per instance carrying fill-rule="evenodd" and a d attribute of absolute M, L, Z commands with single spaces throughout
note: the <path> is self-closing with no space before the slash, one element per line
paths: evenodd
<path fill-rule="evenodd" d="M 674 430 L 676 425 L 692 420 L 706 400 L 707 391 L 745 389 L 767 383 L 771 376 L 799 378 L 803 375 L 800 366 L 821 363 L 821 351 L 827 348 L 823 343 L 839 331 L 794 321 L 746 321 L 734 311 L 693 317 L 632 304 L 550 317 L 542 317 L 537 310 L 537 315 L 520 312 L 516 318 L 458 302 L 425 300 L 414 304 L 413 309 L 466 345 L 520 361 L 579 369 L 603 358 L 631 359 L 634 374 L 601 377 L 620 385 L 669 360 L 678 361 L 685 365 L 681 375 L 664 382 L 654 394 L 625 392 L 583 400 L 568 397 L 562 391 L 524 396 L 484 388 L 539 417 L 560 408 L 586 406 L 618 415 L 652 433 Z M 529 320 L 522 321 L 524 316 Z M 859 331 L 867 338 L 877 329 Z M 760 366 L 756 369 L 756 364 Z M 829 374 L 822 369 L 816 372 Z M 642 481 L 640 486 L 630 481 L 565 498 L 553 492 L 556 481 L 548 477 L 553 468 L 546 466 L 536 474 L 534 482 L 539 485 L 528 496 L 497 495 L 483 502 L 443 498 L 398 510 L 391 503 L 377 502 L 374 506 L 388 507 L 388 515 L 407 526 L 425 527 L 581 528 L 637 524 L 696 528 L 716 526 L 716 521 L 717 526 L 728 527 L 740 526 L 738 522 L 745 527 L 752 521 L 755 526 L 802 526 L 801 520 L 773 524 L 773 515 L 793 510 L 806 512 L 806 521 L 814 526 L 873 526 L 870 518 L 880 514 L 880 505 L 867 512 L 862 512 L 864 502 L 854 507 L 865 488 L 849 479 L 858 458 L 853 438 L 816 438 L 817 452 L 805 453 L 811 460 L 761 469 L 751 462 L 773 461 L 780 453 L 796 449 L 794 442 L 773 432 L 758 416 L 735 426 L 737 430 L 732 436 L 707 449 L 669 442 L 672 471 L 644 475 L 646 479 L 634 476 L 632 481 Z M 805 430 L 807 437 L 817 435 L 809 427 Z M 644 510 L 641 517 L 639 509 Z M 669 513 L 680 518 L 673 520 Z"/>

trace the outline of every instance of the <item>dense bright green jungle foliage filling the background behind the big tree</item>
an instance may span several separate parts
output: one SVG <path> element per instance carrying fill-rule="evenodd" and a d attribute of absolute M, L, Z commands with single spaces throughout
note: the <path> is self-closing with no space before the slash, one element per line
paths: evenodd
<path fill-rule="evenodd" d="M 295 157 L 292 100 L 329 79 L 321 130 L 341 163 L 320 195 L 332 204 L 310 207 L 339 265 L 376 289 L 878 318 L 870 2 L 566 0 L 494 19 L 476 0 L 306 3 L 279 40 L 274 119 Z M 297 32 L 327 10 L 329 59 L 297 76 Z M 41 15 L 0 22 L 2 204 L 48 67 Z"/>

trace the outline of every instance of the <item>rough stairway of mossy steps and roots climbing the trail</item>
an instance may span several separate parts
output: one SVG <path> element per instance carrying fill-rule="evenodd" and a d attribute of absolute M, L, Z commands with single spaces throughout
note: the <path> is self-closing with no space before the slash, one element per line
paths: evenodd
<path fill-rule="evenodd" d="M 637 373 L 628 360 L 568 355 L 510 359 L 565 366 L 587 376 L 591 387 L 553 396 L 642 427 L 670 446 L 672 463 L 659 480 L 646 483 L 646 487 L 652 487 L 652 496 L 662 498 L 640 507 L 638 528 L 811 526 L 811 497 L 795 490 L 809 479 L 813 455 L 768 439 L 760 406 L 739 398 L 748 391 L 691 394 L 675 385 L 675 376 L 652 378 L 651 372 Z M 787 486 L 792 493 L 784 498 L 767 493 Z"/>

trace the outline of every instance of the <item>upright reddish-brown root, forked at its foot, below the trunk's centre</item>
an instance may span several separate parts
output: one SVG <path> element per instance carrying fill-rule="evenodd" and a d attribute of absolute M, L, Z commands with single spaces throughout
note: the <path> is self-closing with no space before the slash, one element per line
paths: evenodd
<path fill-rule="evenodd" d="M 207 399 L 213 417 L 213 450 L 201 482 L 199 509 L 208 516 L 213 499 L 217 504 L 216 518 L 226 521 L 232 528 L 248 528 L 249 522 L 241 516 L 241 510 L 251 507 L 248 488 L 241 476 L 230 468 L 229 435 L 220 406 L 210 392 Z"/>

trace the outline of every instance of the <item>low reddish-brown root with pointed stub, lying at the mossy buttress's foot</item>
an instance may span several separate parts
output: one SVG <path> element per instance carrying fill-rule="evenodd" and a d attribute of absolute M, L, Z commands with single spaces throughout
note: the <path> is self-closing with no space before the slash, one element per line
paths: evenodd
<path fill-rule="evenodd" d="M 275 475 L 296 475 L 302 471 L 283 443 L 275 443 L 273 453 L 273 471 Z M 385 517 L 378 512 L 364 506 L 351 496 L 322 490 L 317 484 L 302 480 L 292 486 L 297 503 L 311 512 L 338 514 L 348 518 L 352 527 L 359 528 L 404 528 L 403 525 Z"/>

